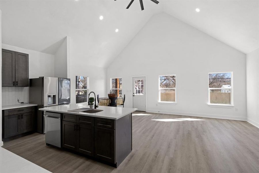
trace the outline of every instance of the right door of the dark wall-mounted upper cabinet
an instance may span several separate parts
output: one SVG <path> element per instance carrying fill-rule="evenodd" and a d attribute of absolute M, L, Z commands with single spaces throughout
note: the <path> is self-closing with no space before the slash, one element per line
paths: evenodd
<path fill-rule="evenodd" d="M 29 55 L 15 52 L 15 86 L 29 86 Z"/>

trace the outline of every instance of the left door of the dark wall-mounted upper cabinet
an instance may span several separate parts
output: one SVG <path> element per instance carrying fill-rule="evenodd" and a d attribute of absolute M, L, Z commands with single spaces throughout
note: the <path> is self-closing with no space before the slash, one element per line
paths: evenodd
<path fill-rule="evenodd" d="M 2 49 L 2 86 L 15 86 L 15 52 Z"/>

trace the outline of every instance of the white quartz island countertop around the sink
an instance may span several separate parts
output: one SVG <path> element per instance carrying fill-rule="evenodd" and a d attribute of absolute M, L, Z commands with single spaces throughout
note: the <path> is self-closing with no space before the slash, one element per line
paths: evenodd
<path fill-rule="evenodd" d="M 39 110 L 49 111 L 49 112 L 59 112 L 66 114 L 76 114 L 76 115 L 85 115 L 98 118 L 107 118 L 117 120 L 127 114 L 130 114 L 137 109 L 135 108 L 121 108 L 121 107 L 110 107 L 110 106 L 99 106 L 96 109 L 103 110 L 97 113 L 85 113 L 85 112 L 70 112 L 68 110 L 79 109 L 79 108 L 89 108 L 87 104 L 66 104 L 59 106 L 51 106 L 46 108 L 40 108 Z"/>

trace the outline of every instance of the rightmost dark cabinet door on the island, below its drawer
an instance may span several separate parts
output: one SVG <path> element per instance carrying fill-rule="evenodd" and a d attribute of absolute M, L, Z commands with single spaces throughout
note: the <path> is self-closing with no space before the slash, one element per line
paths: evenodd
<path fill-rule="evenodd" d="M 115 163 L 115 130 L 94 127 L 94 156 Z"/>

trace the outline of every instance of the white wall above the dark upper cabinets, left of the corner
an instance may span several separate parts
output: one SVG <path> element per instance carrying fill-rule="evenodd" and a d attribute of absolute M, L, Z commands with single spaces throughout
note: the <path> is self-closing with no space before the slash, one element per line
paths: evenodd
<path fill-rule="evenodd" d="M 29 54 L 29 78 L 54 77 L 54 55 L 2 44 L 3 49 Z"/>

